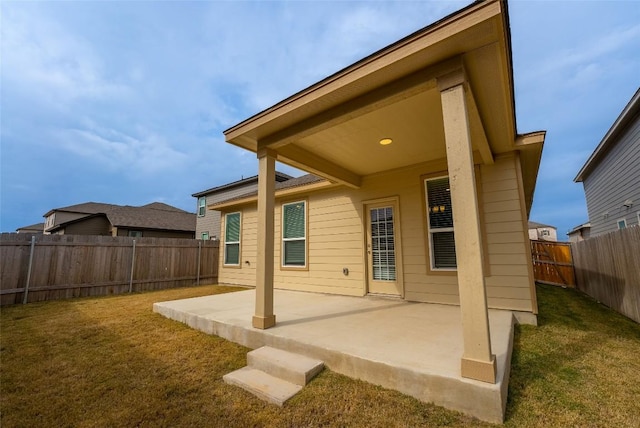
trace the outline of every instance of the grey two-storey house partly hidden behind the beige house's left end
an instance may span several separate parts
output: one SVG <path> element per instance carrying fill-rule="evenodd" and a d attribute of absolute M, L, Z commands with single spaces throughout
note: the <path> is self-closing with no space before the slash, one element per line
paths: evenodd
<path fill-rule="evenodd" d="M 290 175 L 276 171 L 276 182 L 289 180 Z M 194 193 L 196 198 L 196 238 L 198 239 L 219 239 L 220 237 L 220 211 L 208 210 L 207 205 L 215 204 L 227 199 L 233 199 L 246 193 L 258 190 L 258 176 L 243 178 L 222 186 L 213 187 Z"/>

